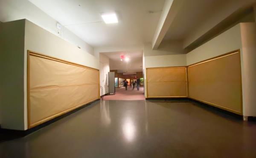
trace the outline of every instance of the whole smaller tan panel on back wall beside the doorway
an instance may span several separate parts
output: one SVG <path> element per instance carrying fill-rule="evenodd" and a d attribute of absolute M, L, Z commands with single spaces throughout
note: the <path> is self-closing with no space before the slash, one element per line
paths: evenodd
<path fill-rule="evenodd" d="M 147 98 L 186 97 L 186 67 L 147 68 Z"/>

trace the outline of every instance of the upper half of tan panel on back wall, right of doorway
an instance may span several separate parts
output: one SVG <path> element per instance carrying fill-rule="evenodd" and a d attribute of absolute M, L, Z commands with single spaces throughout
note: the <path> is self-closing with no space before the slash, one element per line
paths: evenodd
<path fill-rule="evenodd" d="M 153 68 L 147 69 L 148 82 L 186 81 L 186 68 Z"/>

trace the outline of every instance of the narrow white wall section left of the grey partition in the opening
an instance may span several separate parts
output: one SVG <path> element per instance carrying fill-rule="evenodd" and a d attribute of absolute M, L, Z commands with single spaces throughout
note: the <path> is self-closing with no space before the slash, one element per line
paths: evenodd
<path fill-rule="evenodd" d="M 108 93 L 108 72 L 109 70 L 109 58 L 103 54 L 99 55 L 99 83 L 103 87 L 103 95 Z M 102 93 L 100 93 L 102 95 Z"/>

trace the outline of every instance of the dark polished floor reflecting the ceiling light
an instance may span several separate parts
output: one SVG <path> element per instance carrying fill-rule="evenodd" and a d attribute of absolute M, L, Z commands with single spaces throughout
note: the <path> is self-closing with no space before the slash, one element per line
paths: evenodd
<path fill-rule="evenodd" d="M 149 157 L 256 158 L 256 124 L 189 100 L 111 100 L 0 142 L 0 158 Z"/>

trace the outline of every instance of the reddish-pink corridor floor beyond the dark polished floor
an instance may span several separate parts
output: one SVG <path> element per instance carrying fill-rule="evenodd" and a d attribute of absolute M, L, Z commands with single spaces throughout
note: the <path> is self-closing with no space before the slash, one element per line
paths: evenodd
<path fill-rule="evenodd" d="M 116 88 L 115 95 L 104 96 L 104 100 L 145 100 L 144 87 L 140 87 L 140 91 L 137 90 L 136 86 L 134 90 L 129 85 L 127 90 L 125 87 Z"/>

